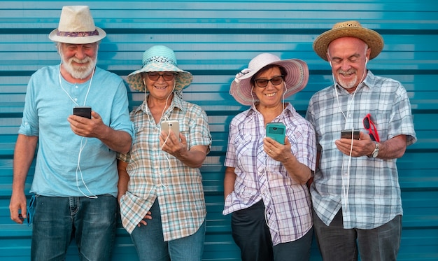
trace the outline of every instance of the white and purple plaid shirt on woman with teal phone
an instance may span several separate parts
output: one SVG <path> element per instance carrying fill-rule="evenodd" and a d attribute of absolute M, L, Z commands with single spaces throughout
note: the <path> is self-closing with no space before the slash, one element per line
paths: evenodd
<path fill-rule="evenodd" d="M 292 154 L 312 171 L 316 140 L 312 126 L 291 104 L 272 122 L 283 122 Z M 295 241 L 312 227 L 309 189 L 290 178 L 281 162 L 263 150 L 263 116 L 254 107 L 239 113 L 229 126 L 225 166 L 234 167 L 234 191 L 225 200 L 224 215 L 247 209 L 263 199 L 265 217 L 274 245 Z"/>

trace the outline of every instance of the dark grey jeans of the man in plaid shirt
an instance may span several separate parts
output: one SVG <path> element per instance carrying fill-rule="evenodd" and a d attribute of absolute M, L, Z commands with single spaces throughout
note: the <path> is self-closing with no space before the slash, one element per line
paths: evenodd
<path fill-rule="evenodd" d="M 342 209 L 329 226 L 313 212 L 316 239 L 324 261 L 397 260 L 402 234 L 402 216 L 372 230 L 344 229 Z"/>

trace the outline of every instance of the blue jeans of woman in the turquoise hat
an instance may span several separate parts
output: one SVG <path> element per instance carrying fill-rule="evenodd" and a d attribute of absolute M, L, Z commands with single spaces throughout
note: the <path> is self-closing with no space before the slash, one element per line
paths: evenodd
<path fill-rule="evenodd" d="M 131 234 L 139 260 L 141 261 L 197 261 L 204 252 L 205 220 L 199 230 L 188 237 L 164 241 L 161 212 L 158 199 L 150 208 L 153 218 L 148 225 L 136 227 Z"/>

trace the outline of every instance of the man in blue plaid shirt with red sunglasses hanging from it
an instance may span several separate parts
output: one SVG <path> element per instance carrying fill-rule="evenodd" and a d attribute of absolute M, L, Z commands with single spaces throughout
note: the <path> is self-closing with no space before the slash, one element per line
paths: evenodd
<path fill-rule="evenodd" d="M 311 197 L 323 260 L 397 258 L 403 211 L 396 160 L 416 134 L 401 83 L 367 70 L 382 49 L 383 38 L 356 21 L 335 24 L 313 43 L 334 81 L 313 95 L 306 113 L 318 143 Z M 359 139 L 340 139 L 343 129 L 360 131 Z"/>

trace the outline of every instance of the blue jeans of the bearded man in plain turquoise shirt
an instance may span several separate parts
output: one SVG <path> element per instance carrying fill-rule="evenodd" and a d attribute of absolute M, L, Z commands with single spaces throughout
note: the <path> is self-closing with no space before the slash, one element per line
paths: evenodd
<path fill-rule="evenodd" d="M 31 260 L 65 260 L 76 238 L 80 260 L 111 260 L 117 199 L 111 195 L 35 198 Z"/>

